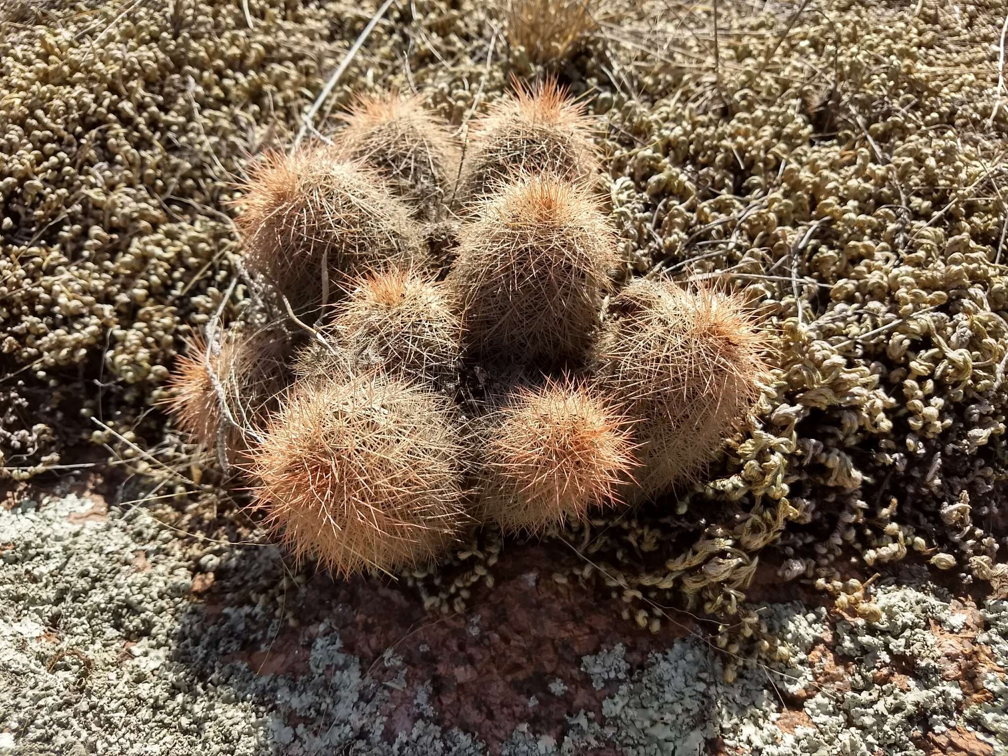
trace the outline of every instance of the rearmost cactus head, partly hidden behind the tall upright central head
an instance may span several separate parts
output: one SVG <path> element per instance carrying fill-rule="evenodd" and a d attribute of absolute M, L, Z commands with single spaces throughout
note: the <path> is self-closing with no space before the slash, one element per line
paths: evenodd
<path fill-rule="evenodd" d="M 599 170 L 594 125 L 584 104 L 569 98 L 555 79 L 532 87 L 516 84 L 514 94 L 497 100 L 474 122 L 459 199 L 479 200 L 520 172 L 590 182 Z"/>

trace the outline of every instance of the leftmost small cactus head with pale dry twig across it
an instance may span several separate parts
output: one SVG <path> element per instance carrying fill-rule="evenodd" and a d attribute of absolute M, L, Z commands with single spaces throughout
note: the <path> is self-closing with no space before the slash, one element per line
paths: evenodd
<path fill-rule="evenodd" d="M 168 395 L 159 403 L 200 447 L 223 451 L 235 464 L 248 448 L 249 430 L 261 428 L 275 408 L 286 383 L 286 337 L 273 330 L 227 331 L 219 349 L 196 336 L 176 358 Z"/>

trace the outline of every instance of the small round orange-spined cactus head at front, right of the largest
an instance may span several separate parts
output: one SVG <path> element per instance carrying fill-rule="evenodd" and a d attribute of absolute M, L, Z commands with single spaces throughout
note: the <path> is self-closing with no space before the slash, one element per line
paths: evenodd
<path fill-rule="evenodd" d="M 618 406 L 569 378 L 515 389 L 484 426 L 480 515 L 505 531 L 542 532 L 618 504 L 636 465 Z"/>

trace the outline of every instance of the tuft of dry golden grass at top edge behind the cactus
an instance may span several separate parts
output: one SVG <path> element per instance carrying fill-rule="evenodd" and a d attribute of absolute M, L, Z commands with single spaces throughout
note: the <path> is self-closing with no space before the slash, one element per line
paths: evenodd
<path fill-rule="evenodd" d="M 598 29 L 599 0 L 496 0 L 507 40 L 537 64 L 570 57 Z"/>

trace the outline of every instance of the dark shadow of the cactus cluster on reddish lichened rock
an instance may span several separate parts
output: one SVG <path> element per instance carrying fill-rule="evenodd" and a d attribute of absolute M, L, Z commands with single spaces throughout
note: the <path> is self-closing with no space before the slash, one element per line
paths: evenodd
<path fill-rule="evenodd" d="M 571 719 L 604 720 L 603 702 L 628 669 L 698 630 L 685 615 L 657 634 L 639 630 L 619 602 L 554 582 L 566 558 L 511 545 L 494 587 L 480 584 L 467 612 L 443 615 L 406 586 L 323 574 L 296 585 L 277 549 L 231 551 L 212 560 L 212 578 L 196 578 L 175 660 L 194 684 L 224 682 L 269 712 L 263 753 L 397 743 L 419 753 L 406 746 L 431 727 L 466 734 L 474 753 L 506 752 L 523 728 L 559 743 Z M 617 644 L 611 679 L 582 668 L 600 652 L 604 666 Z"/>

